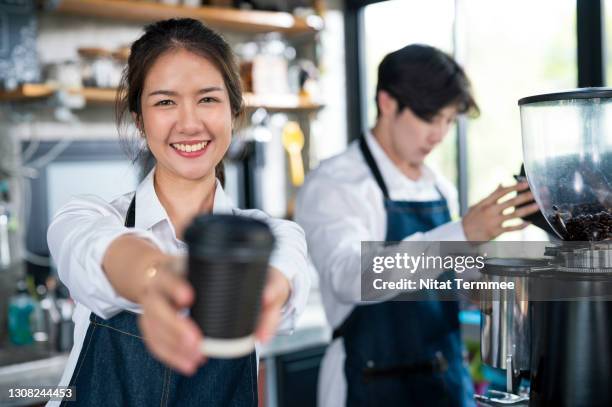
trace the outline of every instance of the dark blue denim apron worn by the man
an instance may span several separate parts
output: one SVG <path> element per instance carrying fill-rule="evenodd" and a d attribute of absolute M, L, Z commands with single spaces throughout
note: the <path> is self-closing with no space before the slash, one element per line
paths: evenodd
<path fill-rule="evenodd" d="M 436 201 L 392 201 L 363 137 L 360 148 L 384 195 L 385 241 L 450 221 L 442 194 Z M 440 279 L 452 277 L 447 272 Z M 334 331 L 334 338 L 344 339 L 347 406 L 474 405 L 458 302 L 439 301 L 435 290 L 419 294 L 427 299 L 358 305 Z"/>

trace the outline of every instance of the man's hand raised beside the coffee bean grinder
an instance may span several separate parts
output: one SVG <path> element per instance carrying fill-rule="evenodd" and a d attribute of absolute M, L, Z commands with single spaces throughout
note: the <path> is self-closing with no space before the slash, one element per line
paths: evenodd
<path fill-rule="evenodd" d="M 462 220 L 463 231 L 467 240 L 484 242 L 494 239 L 504 232 L 526 228 L 529 225 L 527 222 L 522 222 L 515 226 L 503 226 L 503 223 L 511 219 L 531 215 L 539 210 L 535 202 L 518 209 L 515 208 L 521 204 L 533 201 L 531 192 L 519 193 L 515 197 L 502 202 L 499 202 L 499 200 L 511 192 L 520 192 L 528 189 L 529 184 L 526 182 L 509 187 L 502 187 L 500 185 L 491 195 L 472 206 Z M 509 208 L 514 208 L 514 210 L 504 214 L 504 211 Z"/>

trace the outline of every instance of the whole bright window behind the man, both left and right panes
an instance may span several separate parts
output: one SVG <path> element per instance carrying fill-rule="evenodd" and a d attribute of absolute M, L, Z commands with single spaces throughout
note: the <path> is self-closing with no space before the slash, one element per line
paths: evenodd
<path fill-rule="evenodd" d="M 426 43 L 454 55 L 465 68 L 481 108 L 481 116 L 468 122 L 462 157 L 470 205 L 498 184 L 513 182 L 520 170 L 518 99 L 577 84 L 576 0 L 391 0 L 365 6 L 363 16 L 370 124 L 376 115 L 376 67 L 388 52 Z M 455 133 L 428 163 L 458 185 Z"/>

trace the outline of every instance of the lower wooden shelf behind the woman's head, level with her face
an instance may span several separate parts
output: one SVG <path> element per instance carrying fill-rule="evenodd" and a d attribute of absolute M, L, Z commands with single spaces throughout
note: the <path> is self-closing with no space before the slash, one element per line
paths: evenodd
<path fill-rule="evenodd" d="M 14 91 L 1 92 L 0 101 L 37 100 L 53 95 L 58 88 L 47 84 L 24 84 Z M 72 88 L 68 92 L 83 95 L 88 104 L 113 104 L 117 95 L 116 89 Z M 271 111 L 316 111 L 322 104 L 314 103 L 309 98 L 296 95 L 255 95 L 244 94 L 247 109 L 263 107 Z"/>

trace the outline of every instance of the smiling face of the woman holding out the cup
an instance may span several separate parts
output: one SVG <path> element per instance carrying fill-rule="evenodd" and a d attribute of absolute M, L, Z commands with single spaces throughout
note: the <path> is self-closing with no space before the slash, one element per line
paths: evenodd
<path fill-rule="evenodd" d="M 142 91 L 142 126 L 158 171 L 189 180 L 214 176 L 232 133 L 221 73 L 184 49 L 162 54 Z"/>

